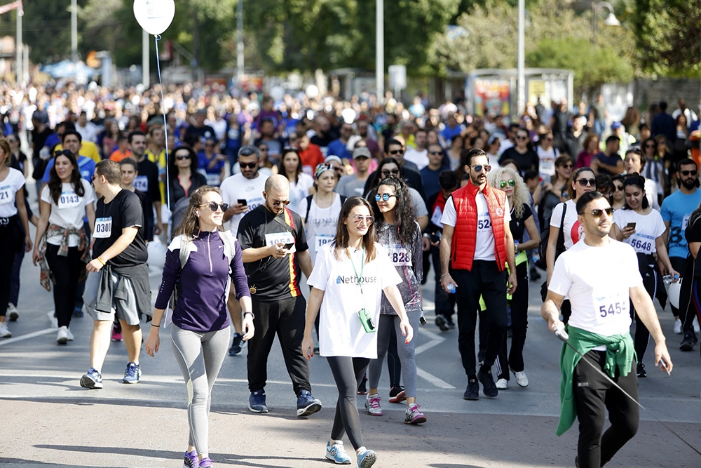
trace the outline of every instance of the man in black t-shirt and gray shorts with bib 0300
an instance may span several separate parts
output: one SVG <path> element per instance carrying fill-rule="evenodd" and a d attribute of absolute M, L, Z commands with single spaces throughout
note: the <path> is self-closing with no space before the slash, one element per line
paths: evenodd
<path fill-rule="evenodd" d="M 97 163 L 93 183 L 101 198 L 95 208 L 93 260 L 88 263 L 83 302 L 93 316 L 90 369 L 81 387 L 102 388 L 102 364 L 109 349 L 111 324 L 116 315 L 122 327 L 129 361 L 122 382 L 135 384 L 141 377 L 140 316 L 151 316 L 151 287 L 146 261 L 149 253 L 142 229 L 144 212 L 139 197 L 122 189 L 118 163 Z"/>

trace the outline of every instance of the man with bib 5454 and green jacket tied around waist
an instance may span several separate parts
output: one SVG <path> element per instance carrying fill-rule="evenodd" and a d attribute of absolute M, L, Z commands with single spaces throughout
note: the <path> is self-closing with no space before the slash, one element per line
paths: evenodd
<path fill-rule="evenodd" d="M 655 365 L 664 361 L 660 370 L 669 372 L 672 359 L 643 286 L 635 251 L 608 236 L 613 224 L 608 201 L 599 192 L 587 192 L 580 196 L 576 208 L 586 235 L 557 258 L 540 313 L 551 331 L 562 330 L 559 307 L 569 296 L 572 315 L 566 328 L 569 340 L 560 356 L 562 403 L 556 434 L 564 434 L 578 419 L 575 463 L 600 467 L 638 429 L 639 407 L 632 401 L 637 401 L 638 389 L 629 331 L 630 301 L 655 339 Z M 604 271 L 615 274 L 602 274 Z M 611 426 L 604 432 L 607 411 Z"/>

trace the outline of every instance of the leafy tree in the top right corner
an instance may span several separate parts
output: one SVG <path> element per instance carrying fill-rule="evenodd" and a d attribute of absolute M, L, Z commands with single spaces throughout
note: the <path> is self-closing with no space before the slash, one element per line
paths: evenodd
<path fill-rule="evenodd" d="M 635 0 L 632 15 L 637 58 L 656 74 L 701 74 L 701 7 L 698 1 Z"/>

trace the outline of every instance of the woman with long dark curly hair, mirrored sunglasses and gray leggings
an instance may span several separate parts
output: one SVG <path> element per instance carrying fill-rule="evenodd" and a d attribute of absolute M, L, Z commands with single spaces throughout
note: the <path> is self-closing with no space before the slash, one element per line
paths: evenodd
<path fill-rule="evenodd" d="M 370 200 L 375 217 L 375 240 L 386 248 L 390 260 L 397 273 L 402 278 L 398 285 L 404 302 L 404 309 L 409 316 L 412 328 L 418 328 L 423 307 L 421 305 L 421 279 L 423 278 L 423 248 L 421 243 L 421 228 L 414 219 L 414 209 L 411 208 L 409 187 L 398 178 L 381 180 L 374 199 Z M 380 307 L 380 319 L 377 341 L 377 359 L 370 361 L 368 368 L 369 392 L 365 401 L 365 409 L 369 415 L 381 416 L 380 397 L 377 387 L 382 373 L 384 356 L 390 347 L 390 341 L 395 340 L 404 373 L 404 394 L 407 410 L 404 423 L 419 424 L 426 422 L 426 416 L 418 410 L 416 404 L 416 359 L 414 357 L 414 342 L 402 343 L 397 340 L 401 333 L 401 318 L 395 312 L 387 297 L 383 295 Z M 390 330 L 394 329 L 394 336 Z M 401 393 L 401 392 L 400 392 Z M 397 395 L 398 396 L 398 395 Z M 396 398 L 397 403 L 404 398 Z"/>

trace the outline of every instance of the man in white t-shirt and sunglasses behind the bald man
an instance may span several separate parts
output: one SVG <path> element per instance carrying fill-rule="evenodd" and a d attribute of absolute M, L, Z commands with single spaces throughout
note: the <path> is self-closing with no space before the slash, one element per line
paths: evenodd
<path fill-rule="evenodd" d="M 263 191 L 265 181 L 268 178 L 258 171 L 260 152 L 254 145 L 245 145 L 238 150 L 238 163 L 241 172 L 224 179 L 222 186 L 222 200 L 229 205 L 229 209 L 224 213 L 224 223 L 228 222 L 231 233 L 236 236 L 238 233 L 238 223 L 243 215 L 248 211 L 264 203 Z M 240 203 L 245 201 L 245 203 Z M 243 345 L 243 329 L 241 328 L 241 306 L 236 300 L 236 290 L 231 283 L 229 292 L 229 315 L 233 323 L 233 344 L 229 349 L 231 356 L 240 354 Z"/>

